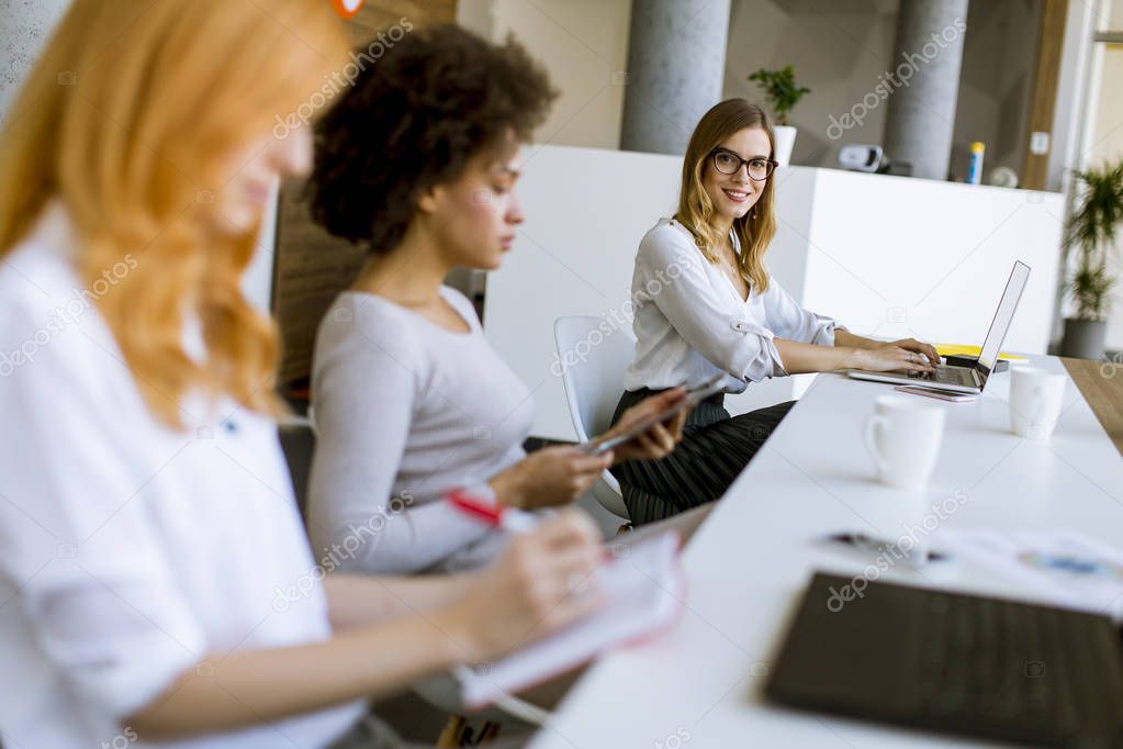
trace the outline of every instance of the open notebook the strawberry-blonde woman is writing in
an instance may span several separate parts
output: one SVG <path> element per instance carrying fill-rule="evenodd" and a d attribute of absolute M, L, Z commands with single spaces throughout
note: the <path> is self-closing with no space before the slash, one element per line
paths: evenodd
<path fill-rule="evenodd" d="M 678 533 L 667 531 L 610 549 L 591 578 L 604 595 L 604 608 L 502 660 L 463 673 L 460 700 L 467 707 L 493 704 L 677 621 L 685 592 Z"/>

